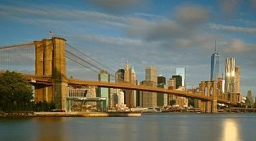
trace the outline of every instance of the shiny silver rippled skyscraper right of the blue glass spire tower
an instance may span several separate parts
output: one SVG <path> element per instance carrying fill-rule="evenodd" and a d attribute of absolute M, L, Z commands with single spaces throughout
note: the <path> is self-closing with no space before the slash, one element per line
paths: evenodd
<path fill-rule="evenodd" d="M 235 92 L 235 58 L 227 58 L 225 62 L 225 92 Z"/>

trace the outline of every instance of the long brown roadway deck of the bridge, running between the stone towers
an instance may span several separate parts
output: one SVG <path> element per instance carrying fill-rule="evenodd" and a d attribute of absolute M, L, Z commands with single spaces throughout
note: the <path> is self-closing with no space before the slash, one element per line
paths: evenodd
<path fill-rule="evenodd" d="M 52 85 L 53 78 L 51 76 L 39 76 L 39 75 L 31 75 L 31 74 L 24 74 L 23 77 L 27 79 L 32 84 L 45 84 L 45 85 Z M 97 87 L 109 87 L 109 88 L 116 88 L 116 89 L 123 89 L 123 90 L 140 90 L 146 92 L 157 92 L 163 94 L 174 94 L 179 97 L 188 97 L 194 99 L 200 99 L 203 101 L 211 101 L 212 97 L 206 97 L 203 94 L 193 94 L 192 92 L 187 91 L 178 91 L 178 90 L 166 90 L 164 88 L 159 87 L 149 87 L 144 85 L 131 85 L 128 83 L 121 83 L 121 82 L 102 82 L 96 80 L 78 80 L 78 79 L 71 79 L 68 78 L 68 85 L 90 85 L 90 86 L 97 86 Z M 236 104 L 234 102 L 229 102 L 226 99 L 217 99 L 217 102 L 224 103 L 224 104 Z"/>

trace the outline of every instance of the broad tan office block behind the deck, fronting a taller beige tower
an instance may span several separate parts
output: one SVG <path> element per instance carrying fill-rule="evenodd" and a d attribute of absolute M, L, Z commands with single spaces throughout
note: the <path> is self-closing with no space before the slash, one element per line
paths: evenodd
<path fill-rule="evenodd" d="M 157 87 L 157 82 L 152 80 L 143 80 L 140 85 Z M 157 93 L 140 91 L 140 107 L 157 107 Z"/>

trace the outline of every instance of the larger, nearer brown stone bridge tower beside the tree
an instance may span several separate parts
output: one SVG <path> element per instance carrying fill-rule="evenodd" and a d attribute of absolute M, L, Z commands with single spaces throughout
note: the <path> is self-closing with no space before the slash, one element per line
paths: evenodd
<path fill-rule="evenodd" d="M 35 75 L 53 78 L 53 85 L 35 85 L 35 102 L 53 101 L 56 109 L 66 109 L 66 39 L 53 37 L 35 41 Z"/>

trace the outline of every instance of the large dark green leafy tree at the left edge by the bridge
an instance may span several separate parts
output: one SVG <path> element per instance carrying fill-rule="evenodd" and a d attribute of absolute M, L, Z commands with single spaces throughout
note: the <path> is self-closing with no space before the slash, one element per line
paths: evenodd
<path fill-rule="evenodd" d="M 16 72 L 6 71 L 0 75 L 0 110 L 31 110 L 32 85 Z"/>

